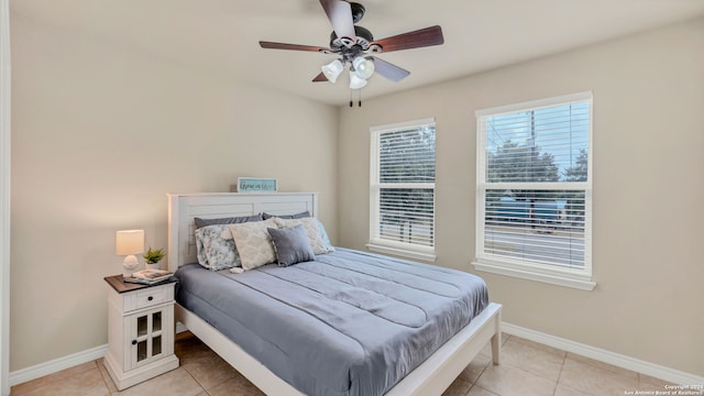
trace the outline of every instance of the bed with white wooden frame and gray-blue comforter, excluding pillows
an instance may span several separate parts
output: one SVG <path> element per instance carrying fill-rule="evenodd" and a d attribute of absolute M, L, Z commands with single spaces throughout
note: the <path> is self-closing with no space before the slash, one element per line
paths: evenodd
<path fill-rule="evenodd" d="M 180 268 L 179 275 L 190 274 L 194 276 L 193 278 L 208 278 L 206 285 L 237 284 L 232 287 L 226 286 L 240 293 L 237 297 L 228 297 L 228 301 L 245 301 L 245 296 L 253 294 L 257 296 L 266 294 L 272 299 L 272 304 L 266 302 L 266 305 L 273 305 L 273 308 L 258 306 L 258 304 L 263 304 L 263 299 L 257 297 L 245 302 L 246 309 L 232 309 L 237 307 L 237 304 L 227 302 L 221 305 L 219 310 L 216 310 L 217 312 L 229 308 L 235 311 L 242 310 L 243 315 L 251 318 L 251 322 L 246 323 L 243 323 L 242 319 L 238 321 L 237 319 L 217 317 L 219 314 L 216 314 L 215 318 L 208 317 L 200 311 L 200 302 L 194 304 L 184 299 L 176 305 L 176 319 L 264 393 L 268 395 L 366 395 L 382 393 L 386 395 L 440 395 L 488 342 L 492 344 L 494 363 L 498 364 L 501 352 L 499 305 L 488 301 L 482 302 L 482 298 L 470 295 L 470 297 L 463 297 L 464 300 L 461 302 L 453 302 L 454 306 L 447 308 L 450 310 L 449 314 L 438 314 L 435 321 L 439 322 L 439 324 L 436 323 L 439 327 L 425 328 L 425 323 L 418 322 L 418 318 L 424 315 L 427 318 L 435 316 L 436 300 L 454 298 L 444 295 L 449 292 L 443 292 L 441 288 L 435 289 L 435 287 L 447 283 L 452 285 L 450 294 L 454 294 L 455 288 L 463 287 L 461 286 L 463 282 L 460 279 L 455 282 L 454 278 L 463 277 L 464 273 L 400 260 L 383 258 L 375 254 L 344 249 L 337 249 L 333 253 L 316 256 L 315 262 L 283 268 L 267 265 L 243 274 L 230 274 L 229 271 L 215 272 L 193 264 L 197 262 L 195 218 L 251 216 L 261 212 L 288 215 L 304 211 L 316 217 L 317 194 L 223 193 L 174 194 L 168 197 L 167 257 L 170 271 L 176 272 Z M 350 265 L 349 263 L 354 264 Z M 355 268 L 353 272 L 349 270 L 352 266 Z M 398 271 L 399 268 L 400 271 Z M 382 274 L 385 272 L 393 272 L 394 275 Z M 198 275 L 196 276 L 196 274 Z M 205 274 L 205 277 L 200 274 Z M 317 277 L 324 274 L 331 278 L 315 282 L 309 278 L 310 274 Z M 188 280 L 190 275 L 183 275 L 179 287 L 188 289 L 191 282 Z M 384 278 L 383 275 L 386 277 Z M 471 277 L 469 274 L 466 276 Z M 421 277 L 422 282 L 419 282 Z M 282 278 L 285 282 L 282 282 Z M 300 280 L 294 283 L 292 282 L 294 278 L 300 278 Z M 354 307 L 350 311 L 345 311 L 344 307 L 349 304 L 330 305 L 327 300 L 319 302 L 318 299 L 315 299 L 318 295 L 333 294 L 336 301 L 332 304 L 337 304 L 337 300 L 345 299 L 352 295 L 366 295 L 369 292 L 359 292 L 358 287 L 358 284 L 367 282 L 364 278 L 372 279 L 370 287 L 376 287 L 376 292 L 384 290 L 385 294 L 392 294 L 384 297 L 385 300 L 381 306 L 376 306 L 376 300 L 369 302 L 364 298 L 360 300 L 359 296 L 353 296 L 358 299 L 352 305 L 373 305 L 366 307 L 364 312 L 374 312 L 372 319 L 377 320 L 372 326 L 374 330 L 370 330 L 369 326 L 367 331 L 354 328 L 356 318 L 351 320 L 350 316 L 356 314 Z M 336 283 L 342 285 L 341 289 L 334 289 L 337 286 L 333 284 Z M 420 302 L 419 297 L 408 297 L 418 299 L 411 301 L 410 305 L 418 305 L 420 312 L 414 311 L 413 307 L 409 308 L 406 304 L 400 304 L 397 299 L 402 294 L 393 295 L 395 292 L 388 287 L 389 283 L 397 283 L 399 287 L 407 287 L 409 284 L 414 288 L 422 288 L 421 292 L 429 296 L 422 298 L 425 305 Z M 297 300 L 299 297 L 296 295 L 293 298 L 292 295 L 286 294 L 287 287 L 294 287 L 290 286 L 292 284 L 295 284 L 296 288 L 300 288 L 299 284 L 305 284 L 305 292 L 315 295 L 314 299 L 305 300 L 300 297 L 300 302 L 294 307 L 292 300 Z M 345 289 L 345 285 L 354 285 L 354 287 Z M 188 292 L 196 296 L 197 301 L 199 295 L 205 296 L 211 293 L 217 300 L 218 296 L 222 296 L 223 293 L 218 292 L 215 286 L 200 286 L 200 292 L 197 290 L 198 287 L 195 287 Z M 376 293 L 374 292 L 374 294 Z M 405 294 L 403 295 L 405 296 Z M 220 299 L 222 304 L 223 297 Z M 200 304 L 200 306 L 215 304 L 207 302 Z M 468 306 L 471 306 L 469 310 L 474 309 L 475 311 L 470 315 L 470 318 L 460 318 L 457 312 L 468 310 Z M 264 309 L 270 310 L 270 314 L 258 315 Z M 287 316 L 292 316 L 293 321 L 278 321 Z M 265 319 L 274 321 L 267 322 Z M 317 322 L 322 323 L 322 329 L 316 327 L 320 326 L 315 324 Z M 385 324 L 387 322 L 392 324 Z M 258 330 L 252 331 L 256 337 L 261 336 L 260 332 L 267 332 L 267 329 L 285 328 L 286 331 L 284 331 L 284 336 L 276 336 L 280 334 L 280 331 L 272 331 L 272 336 L 261 336 L 263 339 L 255 337 L 252 342 L 245 342 L 243 339 L 232 341 L 240 334 L 254 329 L 255 324 L 260 326 Z M 218 327 L 221 330 L 218 330 Z M 385 327 L 391 330 L 385 330 Z M 400 330 L 396 333 L 396 329 Z M 429 337 L 429 332 L 432 337 Z M 380 334 L 378 339 L 383 341 L 386 337 L 384 334 L 387 333 L 391 334 L 387 337 L 389 344 L 376 345 L 375 349 L 370 348 L 369 351 L 372 352 L 369 352 L 366 346 L 360 351 L 360 346 L 356 345 L 362 341 L 374 343 L 375 334 Z M 410 336 L 405 336 L 406 333 Z M 284 341 L 279 338 L 289 338 L 292 334 L 294 336 L 293 342 L 302 348 L 290 349 L 283 345 Z M 406 340 L 406 337 L 414 338 Z M 317 341 L 318 344 L 316 344 Z M 433 342 L 440 344 L 433 345 Z M 328 345 L 328 349 L 323 349 L 323 345 Z M 416 354 L 416 351 L 424 350 L 426 350 L 425 354 Z M 400 360 L 404 362 L 402 367 L 389 366 L 387 370 L 378 370 L 378 367 L 387 366 L 385 363 L 388 361 L 395 362 L 397 354 L 404 358 Z M 330 361 L 323 363 L 323 355 Z M 306 359 L 307 363 L 300 364 L 301 360 Z M 366 361 L 375 362 L 375 365 Z M 307 378 L 312 375 L 310 373 L 316 373 L 316 371 L 323 373 L 318 377 L 318 383 L 315 382 L 316 378 L 312 382 Z M 376 377 L 381 383 L 378 385 L 376 382 L 372 383 L 360 373 Z M 339 378 L 336 380 L 336 376 Z M 326 383 L 326 381 L 330 381 L 330 383 Z M 343 385 L 338 385 L 340 383 Z M 349 393 L 344 389 L 348 386 L 344 384 L 349 384 Z"/>

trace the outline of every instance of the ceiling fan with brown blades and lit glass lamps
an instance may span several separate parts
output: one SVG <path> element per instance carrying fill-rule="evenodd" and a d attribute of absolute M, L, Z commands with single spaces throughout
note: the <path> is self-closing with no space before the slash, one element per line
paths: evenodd
<path fill-rule="evenodd" d="M 329 48 L 260 41 L 262 48 L 308 51 L 338 55 L 338 59 L 321 67 L 321 73 L 312 79 L 314 82 L 334 82 L 348 64 L 350 65 L 351 89 L 361 89 L 366 86 L 366 80 L 375 72 L 394 82 L 398 82 L 408 77 L 410 72 L 382 61 L 372 54 L 440 45 L 444 42 L 440 26 L 430 26 L 374 40 L 372 32 L 356 25 L 364 16 L 364 6 L 346 0 L 320 0 L 320 4 L 333 29 L 330 34 Z"/>

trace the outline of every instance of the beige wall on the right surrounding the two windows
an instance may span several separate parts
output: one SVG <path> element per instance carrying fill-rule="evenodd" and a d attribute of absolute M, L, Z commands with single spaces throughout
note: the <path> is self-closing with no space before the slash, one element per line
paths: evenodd
<path fill-rule="evenodd" d="M 339 243 L 367 242 L 370 127 L 436 117 L 438 264 L 474 272 L 475 110 L 592 90 L 596 288 L 480 275 L 509 323 L 704 375 L 703 65 L 698 19 L 342 108 Z"/>

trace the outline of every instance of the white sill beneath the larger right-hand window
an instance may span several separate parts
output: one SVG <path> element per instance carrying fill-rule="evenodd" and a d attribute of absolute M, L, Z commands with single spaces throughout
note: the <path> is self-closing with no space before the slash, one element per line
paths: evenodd
<path fill-rule="evenodd" d="M 572 275 L 565 274 L 558 271 L 541 271 L 534 272 L 528 268 L 517 268 L 515 266 L 495 263 L 495 262 L 485 262 L 485 261 L 475 261 L 472 262 L 474 268 L 476 271 L 488 272 L 492 274 L 513 276 L 521 279 L 542 282 L 547 284 L 571 287 L 580 290 L 591 292 L 596 286 L 595 282 L 587 278 L 583 275 Z"/>

